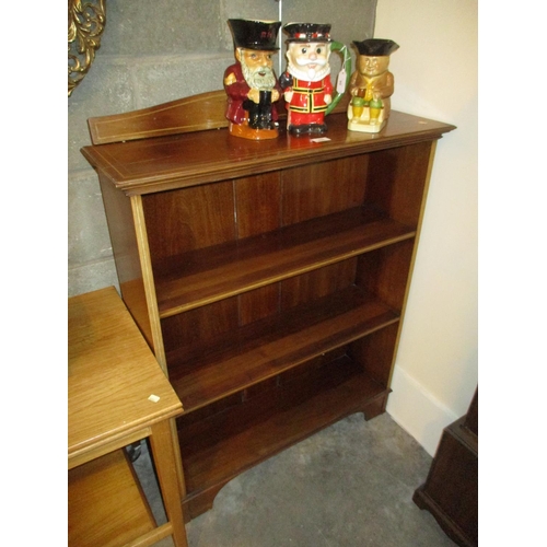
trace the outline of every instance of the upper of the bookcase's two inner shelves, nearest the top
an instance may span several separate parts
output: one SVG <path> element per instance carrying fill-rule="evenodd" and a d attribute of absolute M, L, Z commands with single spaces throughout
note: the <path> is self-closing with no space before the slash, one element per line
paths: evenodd
<path fill-rule="evenodd" d="M 371 221 L 362 208 L 179 255 L 159 267 L 160 317 L 318 269 L 414 237 L 391 219 Z"/>

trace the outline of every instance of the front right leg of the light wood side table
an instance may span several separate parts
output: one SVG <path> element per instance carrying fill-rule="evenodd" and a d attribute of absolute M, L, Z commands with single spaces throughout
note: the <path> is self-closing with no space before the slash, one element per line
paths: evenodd
<path fill-rule="evenodd" d="M 188 547 L 170 422 L 165 420 L 155 423 L 151 429 L 152 457 L 158 472 L 165 513 L 173 526 L 173 542 L 176 547 Z"/>

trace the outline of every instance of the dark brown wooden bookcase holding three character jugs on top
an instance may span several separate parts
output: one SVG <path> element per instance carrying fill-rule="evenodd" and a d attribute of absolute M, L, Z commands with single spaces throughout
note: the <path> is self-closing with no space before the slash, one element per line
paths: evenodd
<path fill-rule="evenodd" d="M 340 418 L 383 412 L 437 141 L 230 136 L 213 92 L 90 120 L 124 301 L 183 401 L 188 517 Z M 345 105 L 339 105 L 344 110 Z"/>

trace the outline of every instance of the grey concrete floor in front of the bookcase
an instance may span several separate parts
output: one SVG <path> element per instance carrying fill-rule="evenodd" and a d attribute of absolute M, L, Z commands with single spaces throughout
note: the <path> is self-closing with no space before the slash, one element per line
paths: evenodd
<path fill-rule="evenodd" d="M 412 502 L 431 459 L 389 415 L 349 416 L 230 481 L 213 509 L 186 525 L 188 545 L 454 547 Z M 136 468 L 164 522 L 146 450 Z"/>

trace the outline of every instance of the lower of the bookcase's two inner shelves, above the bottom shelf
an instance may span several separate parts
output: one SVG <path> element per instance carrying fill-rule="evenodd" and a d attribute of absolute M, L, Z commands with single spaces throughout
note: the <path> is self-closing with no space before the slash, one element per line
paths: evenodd
<path fill-rule="evenodd" d="M 398 322 L 357 287 L 230 330 L 216 344 L 167 356 L 171 383 L 186 411 L 258 384 Z"/>

